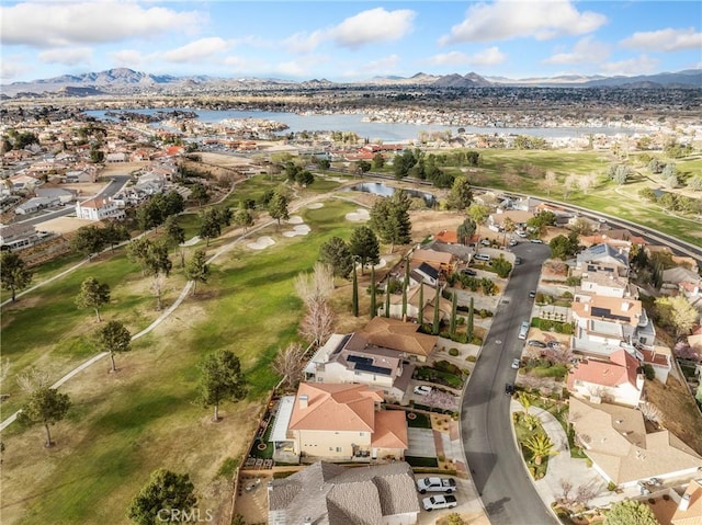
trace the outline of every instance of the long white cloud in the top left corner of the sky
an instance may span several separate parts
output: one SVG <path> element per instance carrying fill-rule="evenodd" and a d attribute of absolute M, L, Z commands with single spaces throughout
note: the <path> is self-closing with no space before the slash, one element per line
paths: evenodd
<path fill-rule="evenodd" d="M 163 33 L 193 33 L 207 21 L 197 11 L 145 9 L 115 0 L 24 2 L 0 8 L 3 45 L 57 47 L 151 38 Z"/>

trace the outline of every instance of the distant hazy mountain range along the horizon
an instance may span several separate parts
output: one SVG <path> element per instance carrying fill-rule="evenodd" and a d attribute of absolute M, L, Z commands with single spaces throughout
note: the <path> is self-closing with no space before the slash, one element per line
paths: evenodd
<path fill-rule="evenodd" d="M 217 78 L 208 76 L 173 77 L 150 75 L 128 68 L 107 69 L 83 75 L 64 75 L 32 82 L 13 82 L 0 85 L 2 99 L 44 96 L 57 93 L 69 96 L 99 94 L 135 94 L 158 92 L 197 92 L 227 90 L 274 90 L 274 89 L 324 89 L 335 87 L 424 87 L 435 89 L 466 89 L 486 87 L 530 87 L 530 88 L 702 88 L 702 69 L 687 69 L 678 72 L 641 75 L 636 77 L 603 76 L 559 76 L 551 78 L 509 79 L 505 77 L 483 77 L 475 72 L 467 75 L 428 75 L 419 72 L 411 77 L 374 77 L 366 81 L 337 83 L 326 79 L 292 81 L 272 78 Z"/>

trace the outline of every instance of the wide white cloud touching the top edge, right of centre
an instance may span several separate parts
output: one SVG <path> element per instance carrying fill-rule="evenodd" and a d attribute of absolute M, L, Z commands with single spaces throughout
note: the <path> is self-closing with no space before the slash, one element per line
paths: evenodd
<path fill-rule="evenodd" d="M 471 5 L 465 20 L 439 39 L 441 45 L 517 37 L 550 39 L 590 33 L 607 22 L 603 14 L 578 11 L 569 0 L 497 0 Z"/>

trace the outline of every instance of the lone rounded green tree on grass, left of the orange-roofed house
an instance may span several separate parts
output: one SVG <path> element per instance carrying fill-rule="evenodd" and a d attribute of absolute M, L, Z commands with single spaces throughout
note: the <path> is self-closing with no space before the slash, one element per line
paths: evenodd
<path fill-rule="evenodd" d="M 219 421 L 219 403 L 238 401 L 247 395 L 247 385 L 239 358 L 229 350 L 219 350 L 205 357 L 201 366 L 200 400 L 214 407 L 213 421 Z"/>

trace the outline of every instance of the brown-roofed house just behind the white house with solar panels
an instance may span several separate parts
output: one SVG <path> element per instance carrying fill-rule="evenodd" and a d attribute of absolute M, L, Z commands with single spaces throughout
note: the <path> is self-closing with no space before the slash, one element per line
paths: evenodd
<path fill-rule="evenodd" d="M 361 331 L 371 344 L 400 352 L 403 358 L 424 362 L 439 338 L 419 333 L 419 324 L 387 317 L 374 317 Z"/>

